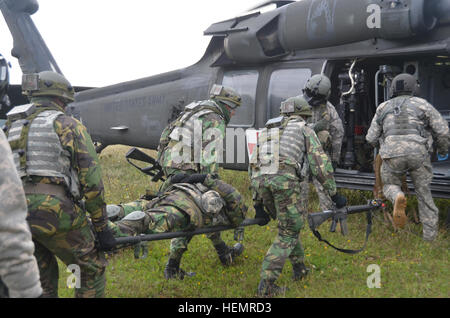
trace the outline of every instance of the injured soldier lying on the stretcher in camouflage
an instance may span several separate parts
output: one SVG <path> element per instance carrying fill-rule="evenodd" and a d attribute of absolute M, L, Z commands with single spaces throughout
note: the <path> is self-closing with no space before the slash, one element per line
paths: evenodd
<path fill-rule="evenodd" d="M 213 175 L 178 175 L 172 182 L 164 194 L 149 201 L 141 211 L 128 210 L 122 220 L 112 225 L 116 235 L 177 232 L 214 225 L 236 227 L 245 219 L 247 207 L 241 194 Z M 186 244 L 191 239 L 186 237 Z M 166 278 L 184 278 L 186 272 L 180 268 L 180 261 L 169 258 Z"/>

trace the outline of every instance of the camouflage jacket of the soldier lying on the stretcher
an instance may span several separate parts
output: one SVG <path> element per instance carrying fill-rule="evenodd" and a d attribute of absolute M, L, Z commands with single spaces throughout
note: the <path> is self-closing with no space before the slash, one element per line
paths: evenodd
<path fill-rule="evenodd" d="M 232 225 L 236 227 L 244 221 L 247 213 L 247 206 L 244 204 L 244 199 L 239 191 L 222 180 L 214 178 L 212 175 L 206 177 L 203 185 L 209 190 L 218 192 L 225 202 L 225 209 L 222 209 L 222 211 L 214 217 L 202 212 L 191 195 L 174 188 L 173 186 L 161 197 L 150 201 L 147 204 L 147 208 L 154 211 L 164 211 L 165 207 L 175 206 L 177 209 L 184 211 L 190 216 L 192 228 L 214 225 Z"/>

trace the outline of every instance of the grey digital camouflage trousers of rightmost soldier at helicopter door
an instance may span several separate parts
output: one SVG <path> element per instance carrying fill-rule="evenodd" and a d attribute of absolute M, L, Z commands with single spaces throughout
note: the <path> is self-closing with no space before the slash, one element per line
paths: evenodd
<path fill-rule="evenodd" d="M 430 184 L 433 168 L 430 158 L 423 155 L 410 155 L 383 159 L 381 179 L 383 193 L 393 204 L 398 194 L 402 193 L 402 178 L 409 173 L 414 184 L 419 205 L 420 221 L 423 225 L 423 238 L 433 240 L 438 232 L 439 210 L 431 195 Z"/>

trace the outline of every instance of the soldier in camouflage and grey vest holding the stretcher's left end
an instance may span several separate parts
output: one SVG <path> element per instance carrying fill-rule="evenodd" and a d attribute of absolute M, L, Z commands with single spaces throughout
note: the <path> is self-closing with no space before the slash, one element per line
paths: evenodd
<path fill-rule="evenodd" d="M 57 256 L 66 265 L 79 266 L 76 297 L 102 297 L 107 263 L 93 231 L 101 249 L 113 248 L 115 239 L 107 227 L 92 140 L 79 121 L 64 114 L 74 90 L 62 75 L 44 71 L 24 75 L 22 91 L 31 103 L 13 108 L 6 128 L 24 185 L 44 296 L 58 296 Z"/>

